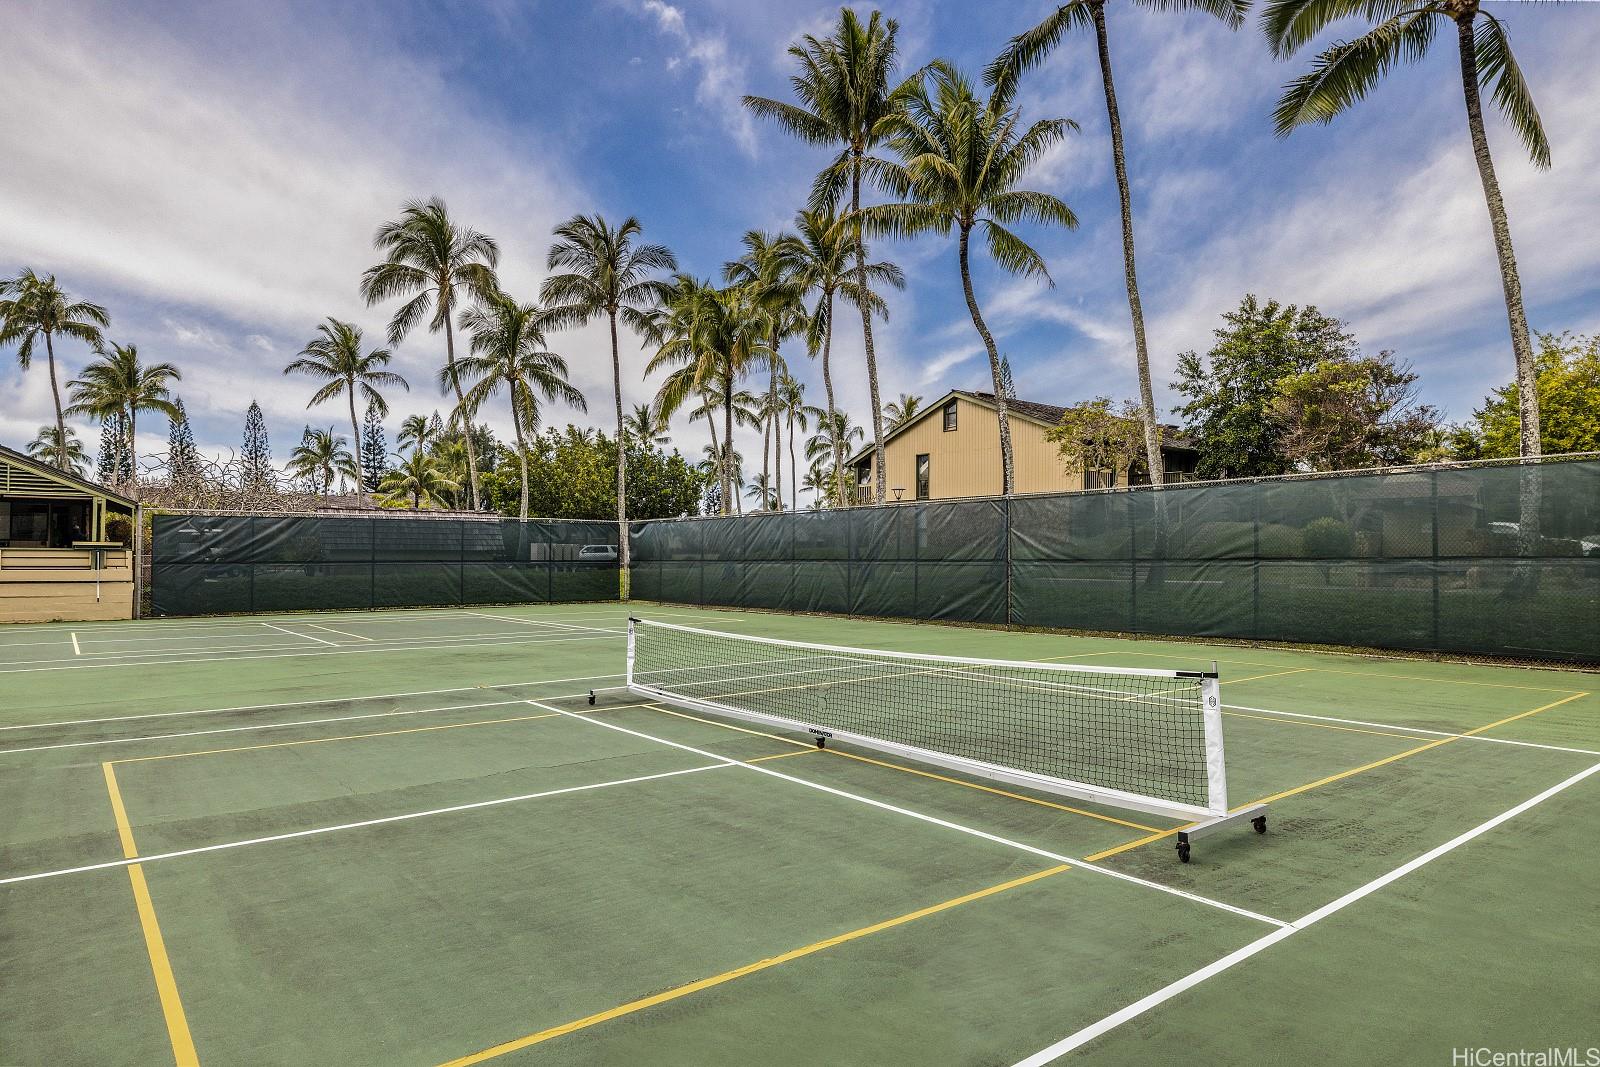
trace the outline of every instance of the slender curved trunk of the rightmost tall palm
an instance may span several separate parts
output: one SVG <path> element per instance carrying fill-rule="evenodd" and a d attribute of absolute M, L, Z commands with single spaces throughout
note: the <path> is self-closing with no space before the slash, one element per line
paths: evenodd
<path fill-rule="evenodd" d="M 1488 205 L 1490 227 L 1494 232 L 1501 290 L 1506 293 L 1510 350 L 1517 360 L 1517 414 L 1522 422 L 1522 454 L 1523 458 L 1530 458 L 1539 456 L 1542 451 L 1539 438 L 1539 374 L 1533 363 L 1528 315 L 1522 307 L 1522 278 L 1517 275 L 1517 253 L 1510 245 L 1510 221 L 1506 218 L 1506 202 L 1501 198 L 1499 179 L 1494 176 L 1490 139 L 1483 133 L 1483 102 L 1478 96 L 1478 53 L 1472 37 L 1474 14 L 1456 22 L 1456 43 L 1461 51 L 1461 90 L 1467 102 L 1467 130 L 1472 134 L 1472 155 L 1478 163 L 1483 200 Z M 1536 553 L 1539 542 L 1539 475 L 1536 469 L 1523 467 L 1520 496 L 1517 523 L 1518 550 L 1522 555 L 1531 557 Z M 1534 581 L 1531 573 L 1526 581 Z"/>

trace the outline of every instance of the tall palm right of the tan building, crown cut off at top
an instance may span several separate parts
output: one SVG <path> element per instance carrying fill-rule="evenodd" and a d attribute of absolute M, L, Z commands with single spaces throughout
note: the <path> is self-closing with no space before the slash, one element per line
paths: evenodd
<path fill-rule="evenodd" d="M 1245 22 L 1250 0 L 1136 0 L 1155 11 L 1194 10 L 1213 14 L 1229 29 Z M 1150 387 L 1150 349 L 1144 339 L 1144 304 L 1139 299 L 1139 275 L 1133 259 L 1133 194 L 1128 187 L 1128 152 L 1122 141 L 1122 112 L 1117 109 L 1117 83 L 1110 75 L 1110 40 L 1106 34 L 1106 0 L 1072 0 L 1064 3 L 1034 29 L 1018 34 L 984 70 L 984 82 L 995 86 L 1016 85 L 1024 70 L 1045 61 L 1061 38 L 1074 29 L 1094 30 L 1099 54 L 1101 88 L 1106 94 L 1106 118 L 1110 125 L 1110 162 L 1117 174 L 1117 197 L 1122 203 L 1122 274 L 1128 288 L 1128 314 L 1133 317 L 1133 354 L 1139 370 L 1139 403 L 1144 408 L 1144 459 L 1150 482 L 1162 483 L 1162 438 L 1155 418 L 1155 392 Z"/>

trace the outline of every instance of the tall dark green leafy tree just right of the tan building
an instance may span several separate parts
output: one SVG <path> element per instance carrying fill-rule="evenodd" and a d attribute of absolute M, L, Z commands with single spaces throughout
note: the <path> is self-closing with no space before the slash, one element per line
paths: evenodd
<path fill-rule="evenodd" d="M 1278 382 L 1323 362 L 1357 357 L 1355 338 L 1344 323 L 1315 307 L 1259 302 L 1245 296 L 1222 315 L 1216 344 L 1202 357 L 1178 357 L 1173 389 L 1184 397 L 1176 411 L 1184 432 L 1200 448 L 1202 478 L 1250 478 L 1288 474 L 1283 427 L 1270 418 Z"/>

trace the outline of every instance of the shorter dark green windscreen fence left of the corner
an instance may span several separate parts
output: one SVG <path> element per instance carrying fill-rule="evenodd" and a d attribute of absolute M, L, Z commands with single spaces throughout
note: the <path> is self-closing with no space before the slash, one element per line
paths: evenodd
<path fill-rule="evenodd" d="M 155 614 L 616 600 L 616 523 L 155 515 Z M 584 558 L 584 557 L 590 558 Z"/>

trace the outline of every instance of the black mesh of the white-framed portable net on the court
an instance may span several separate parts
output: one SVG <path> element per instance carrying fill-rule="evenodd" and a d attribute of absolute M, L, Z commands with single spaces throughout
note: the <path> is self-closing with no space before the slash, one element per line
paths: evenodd
<path fill-rule="evenodd" d="M 634 672 L 701 701 L 1056 782 L 1206 806 L 1200 680 L 950 662 L 635 622 Z M 973 768 L 982 773 L 981 768 Z"/>

